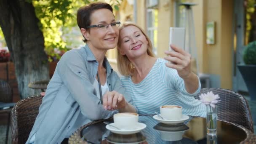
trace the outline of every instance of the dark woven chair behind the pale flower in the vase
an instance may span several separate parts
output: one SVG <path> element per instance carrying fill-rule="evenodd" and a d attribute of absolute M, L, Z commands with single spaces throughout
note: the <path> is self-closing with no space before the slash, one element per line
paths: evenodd
<path fill-rule="evenodd" d="M 245 100 L 243 96 L 234 91 L 222 88 L 203 88 L 199 95 L 209 91 L 212 91 L 214 94 L 219 94 L 221 99 L 221 101 L 217 103 L 218 120 L 242 125 L 254 133 L 251 111 L 247 100 Z M 199 95 L 195 98 L 199 99 Z"/>

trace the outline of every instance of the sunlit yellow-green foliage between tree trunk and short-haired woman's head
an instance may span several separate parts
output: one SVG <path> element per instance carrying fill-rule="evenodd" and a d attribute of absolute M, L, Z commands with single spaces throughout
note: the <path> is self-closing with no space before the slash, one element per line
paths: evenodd
<path fill-rule="evenodd" d="M 35 13 L 40 20 L 38 24 L 43 32 L 45 39 L 45 52 L 49 56 L 49 61 L 55 57 L 59 59 L 61 56 L 54 50 L 66 52 L 73 48 L 72 43 L 77 42 L 81 45 L 82 37 L 74 41 L 69 37 L 70 32 L 75 29 L 79 31 L 76 24 L 76 13 L 82 5 L 87 5 L 98 0 L 28 0 L 35 7 Z M 122 0 L 110 0 L 109 4 L 114 5 L 118 10 Z M 81 34 L 80 34 L 81 35 Z M 81 35 L 82 36 L 82 35 Z M 76 36 L 77 37 L 77 36 Z M 76 46 L 76 45 L 75 45 Z"/>

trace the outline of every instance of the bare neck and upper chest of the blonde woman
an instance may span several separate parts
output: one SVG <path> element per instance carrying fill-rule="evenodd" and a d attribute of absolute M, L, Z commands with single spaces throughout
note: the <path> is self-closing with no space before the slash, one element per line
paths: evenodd
<path fill-rule="evenodd" d="M 139 58 L 131 60 L 131 63 L 135 67 L 133 75 L 135 77 L 145 77 L 155 64 L 156 60 L 157 58 L 151 57 L 147 53 L 143 56 L 140 56 Z"/>

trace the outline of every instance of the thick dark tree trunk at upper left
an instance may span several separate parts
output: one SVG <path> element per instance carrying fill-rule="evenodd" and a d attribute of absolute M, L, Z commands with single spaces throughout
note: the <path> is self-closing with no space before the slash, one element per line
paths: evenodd
<path fill-rule="evenodd" d="M 0 0 L 0 26 L 15 66 L 21 98 L 40 93 L 28 87 L 30 82 L 49 79 L 44 37 L 38 25 L 32 3 Z"/>

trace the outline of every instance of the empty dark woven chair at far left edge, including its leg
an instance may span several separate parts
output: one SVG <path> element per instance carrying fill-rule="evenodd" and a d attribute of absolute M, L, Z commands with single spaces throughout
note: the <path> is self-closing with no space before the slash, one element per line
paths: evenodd
<path fill-rule="evenodd" d="M 7 144 L 7 142 L 8 142 L 8 133 L 9 133 L 9 126 L 10 126 L 10 114 L 11 114 L 11 109 L 14 106 L 14 104 L 15 103 L 13 103 L 12 88 L 10 87 L 10 85 L 6 81 L 0 80 L 0 114 L 8 114 L 5 144 Z"/>

